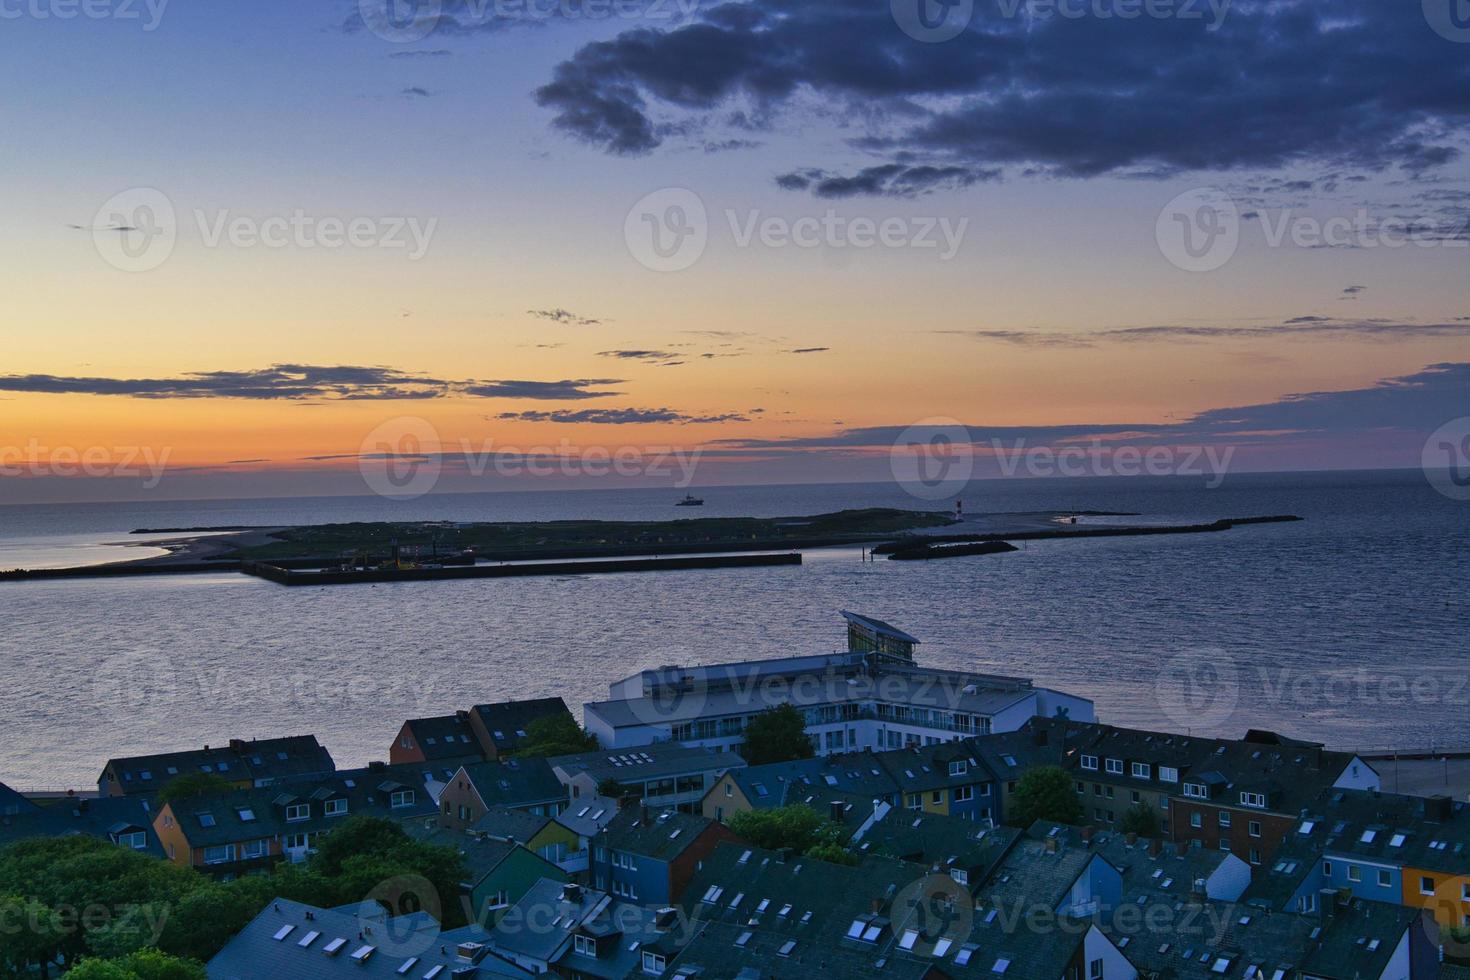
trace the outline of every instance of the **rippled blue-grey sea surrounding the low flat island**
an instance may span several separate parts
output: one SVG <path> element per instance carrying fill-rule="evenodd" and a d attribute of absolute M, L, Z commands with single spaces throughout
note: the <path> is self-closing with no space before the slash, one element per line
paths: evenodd
<path fill-rule="evenodd" d="M 0 569 L 157 554 L 140 527 L 797 516 L 951 508 L 897 483 L 0 507 Z M 1360 751 L 1470 749 L 1470 504 L 1419 472 L 979 480 L 969 514 L 1297 514 L 1222 533 L 1038 541 L 942 561 L 822 548 L 773 569 L 281 588 L 235 573 L 0 582 L 0 782 L 82 788 L 109 757 L 315 733 L 338 765 L 400 724 L 663 664 L 845 644 L 841 610 L 936 667 L 1033 679 L 1102 721 Z"/>

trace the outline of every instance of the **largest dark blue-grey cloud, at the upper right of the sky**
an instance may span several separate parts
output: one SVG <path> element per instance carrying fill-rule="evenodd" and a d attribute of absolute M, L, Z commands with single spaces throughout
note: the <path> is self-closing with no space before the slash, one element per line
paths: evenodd
<path fill-rule="evenodd" d="M 1426 31 L 1417 4 L 1239 0 L 1219 24 L 1207 4 L 1194 9 L 1202 16 L 1025 16 L 1026 4 L 976 0 L 960 37 L 923 44 L 872 0 L 723 3 L 673 29 L 585 44 L 537 98 L 562 131 L 642 154 L 734 126 L 735 113 L 770 125 L 811 96 L 819 112 L 854 120 L 856 151 L 882 159 L 845 176 L 792 167 L 778 178 L 835 197 L 963 185 L 1001 167 L 1417 175 L 1460 154 L 1470 60 Z"/>

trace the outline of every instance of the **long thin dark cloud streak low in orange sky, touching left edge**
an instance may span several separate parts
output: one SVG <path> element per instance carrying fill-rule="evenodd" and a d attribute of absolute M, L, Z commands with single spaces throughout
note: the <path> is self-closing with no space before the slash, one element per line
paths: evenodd
<path fill-rule="evenodd" d="M 465 395 L 472 398 L 604 398 L 589 391 L 622 383 L 616 378 L 579 381 L 445 381 L 391 367 L 273 364 L 260 370 L 191 372 L 181 378 L 66 378 L 0 375 L 0 391 L 47 395 L 121 395 L 126 398 L 247 398 L 256 401 L 404 401 Z"/>

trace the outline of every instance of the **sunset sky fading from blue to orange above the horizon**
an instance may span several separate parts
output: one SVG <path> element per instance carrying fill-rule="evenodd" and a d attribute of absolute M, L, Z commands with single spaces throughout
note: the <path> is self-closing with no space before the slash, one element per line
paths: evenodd
<path fill-rule="evenodd" d="M 0 502 L 1470 455 L 1452 0 L 0 0 Z"/>

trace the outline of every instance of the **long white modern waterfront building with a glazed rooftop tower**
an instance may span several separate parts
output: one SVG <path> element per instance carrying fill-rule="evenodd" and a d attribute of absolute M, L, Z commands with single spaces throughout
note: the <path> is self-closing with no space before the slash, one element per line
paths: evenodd
<path fill-rule="evenodd" d="M 844 652 L 644 670 L 584 705 L 587 727 L 609 749 L 666 741 L 728 749 L 753 716 L 792 704 L 825 755 L 1013 732 L 1038 714 L 1095 720 L 1089 699 L 1026 679 L 922 667 L 908 633 L 842 616 Z"/>

